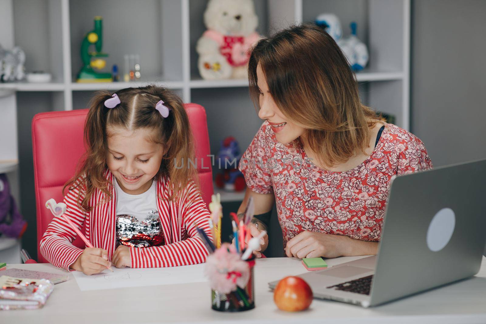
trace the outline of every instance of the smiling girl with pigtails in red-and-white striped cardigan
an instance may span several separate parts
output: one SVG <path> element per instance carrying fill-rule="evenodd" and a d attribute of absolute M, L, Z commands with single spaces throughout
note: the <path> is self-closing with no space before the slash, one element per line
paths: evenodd
<path fill-rule="evenodd" d="M 196 226 L 208 236 L 210 217 L 193 168 L 191 127 L 172 91 L 149 85 L 90 102 L 85 124 L 87 153 L 69 181 L 66 215 L 94 248 L 71 244 L 76 234 L 55 217 L 40 241 L 53 265 L 85 274 L 117 268 L 171 267 L 201 263 L 208 251 Z"/>

